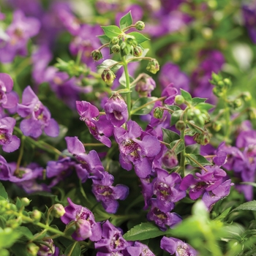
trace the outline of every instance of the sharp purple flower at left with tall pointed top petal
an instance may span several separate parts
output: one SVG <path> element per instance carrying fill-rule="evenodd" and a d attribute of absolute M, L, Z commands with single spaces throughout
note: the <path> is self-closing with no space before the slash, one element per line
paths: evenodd
<path fill-rule="evenodd" d="M 22 102 L 17 105 L 17 112 L 25 118 L 20 122 L 20 129 L 24 135 L 37 138 L 42 131 L 50 137 L 59 135 L 59 124 L 50 118 L 50 111 L 42 105 L 30 86 L 24 89 Z"/>

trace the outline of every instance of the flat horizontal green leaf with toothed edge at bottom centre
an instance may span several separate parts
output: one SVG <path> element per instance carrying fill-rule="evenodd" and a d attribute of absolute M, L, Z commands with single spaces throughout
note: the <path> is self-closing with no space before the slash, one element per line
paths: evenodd
<path fill-rule="evenodd" d="M 159 230 L 153 222 L 143 222 L 140 225 L 132 227 L 124 234 L 124 239 L 127 241 L 143 241 L 149 238 L 165 235 L 165 232 Z"/>

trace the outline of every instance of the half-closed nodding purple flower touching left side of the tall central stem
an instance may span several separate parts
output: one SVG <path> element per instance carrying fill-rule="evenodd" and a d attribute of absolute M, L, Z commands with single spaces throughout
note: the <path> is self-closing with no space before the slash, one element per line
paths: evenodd
<path fill-rule="evenodd" d="M 104 109 L 108 120 L 116 127 L 121 127 L 128 120 L 127 103 L 119 94 L 113 94 Z"/>

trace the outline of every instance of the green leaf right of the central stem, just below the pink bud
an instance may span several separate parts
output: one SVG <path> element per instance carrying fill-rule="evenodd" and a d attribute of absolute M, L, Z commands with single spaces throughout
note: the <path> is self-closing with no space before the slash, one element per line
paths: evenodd
<path fill-rule="evenodd" d="M 154 103 L 152 102 L 149 104 L 149 102 L 156 100 L 157 97 L 142 97 L 137 99 L 133 105 L 132 105 L 132 110 L 131 113 L 132 115 L 146 115 L 150 113 L 152 108 L 154 108 Z"/>

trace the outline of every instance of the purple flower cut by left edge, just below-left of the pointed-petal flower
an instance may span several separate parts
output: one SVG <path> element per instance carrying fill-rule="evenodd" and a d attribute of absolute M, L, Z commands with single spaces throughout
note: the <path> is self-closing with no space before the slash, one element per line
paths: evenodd
<path fill-rule="evenodd" d="M 0 145 L 5 152 L 12 152 L 20 147 L 20 139 L 12 135 L 16 121 L 12 117 L 4 117 L 0 119 Z"/>

